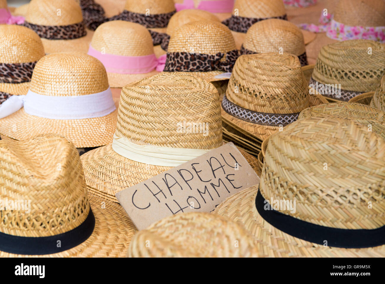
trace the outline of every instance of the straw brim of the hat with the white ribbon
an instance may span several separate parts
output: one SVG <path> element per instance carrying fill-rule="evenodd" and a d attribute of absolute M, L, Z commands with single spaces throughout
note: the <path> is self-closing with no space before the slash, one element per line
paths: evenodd
<path fill-rule="evenodd" d="M 119 99 L 114 98 L 116 110 L 104 117 L 60 120 L 30 115 L 24 108 L 0 119 L 0 135 L 25 140 L 39 134 L 57 133 L 71 140 L 75 147 L 99 147 L 112 142 L 116 128 Z"/>

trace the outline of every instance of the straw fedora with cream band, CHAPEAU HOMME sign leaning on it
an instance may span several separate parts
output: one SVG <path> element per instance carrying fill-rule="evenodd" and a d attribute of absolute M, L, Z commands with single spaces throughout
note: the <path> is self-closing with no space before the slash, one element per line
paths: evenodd
<path fill-rule="evenodd" d="M 208 128 L 183 133 L 184 121 Z M 218 91 L 200 77 L 175 72 L 124 86 L 114 141 L 81 158 L 89 190 L 117 202 L 117 192 L 221 145 Z M 254 157 L 243 154 L 258 166 Z"/>

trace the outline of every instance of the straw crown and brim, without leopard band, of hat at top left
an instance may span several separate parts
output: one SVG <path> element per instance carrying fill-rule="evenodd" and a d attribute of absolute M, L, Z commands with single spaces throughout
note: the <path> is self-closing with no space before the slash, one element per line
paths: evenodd
<path fill-rule="evenodd" d="M 59 26 L 72 25 L 83 21 L 82 10 L 74 0 L 32 0 L 28 4 L 26 22 L 35 25 Z M 87 53 L 93 32 L 78 39 L 44 39 L 46 53 L 80 51 Z"/>

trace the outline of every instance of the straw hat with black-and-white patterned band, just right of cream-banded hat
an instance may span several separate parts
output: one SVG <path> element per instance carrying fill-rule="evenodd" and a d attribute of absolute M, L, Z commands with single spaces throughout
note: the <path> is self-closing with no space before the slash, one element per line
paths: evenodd
<path fill-rule="evenodd" d="M 283 52 L 242 55 L 235 63 L 222 117 L 259 140 L 308 108 L 309 93 L 297 56 Z"/>

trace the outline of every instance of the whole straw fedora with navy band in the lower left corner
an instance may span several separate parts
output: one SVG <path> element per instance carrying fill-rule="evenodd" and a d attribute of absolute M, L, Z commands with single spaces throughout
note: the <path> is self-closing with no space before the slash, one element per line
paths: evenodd
<path fill-rule="evenodd" d="M 0 140 L 0 160 L 0 257 L 125 256 L 136 229 L 120 205 L 87 196 L 72 142 Z"/>

